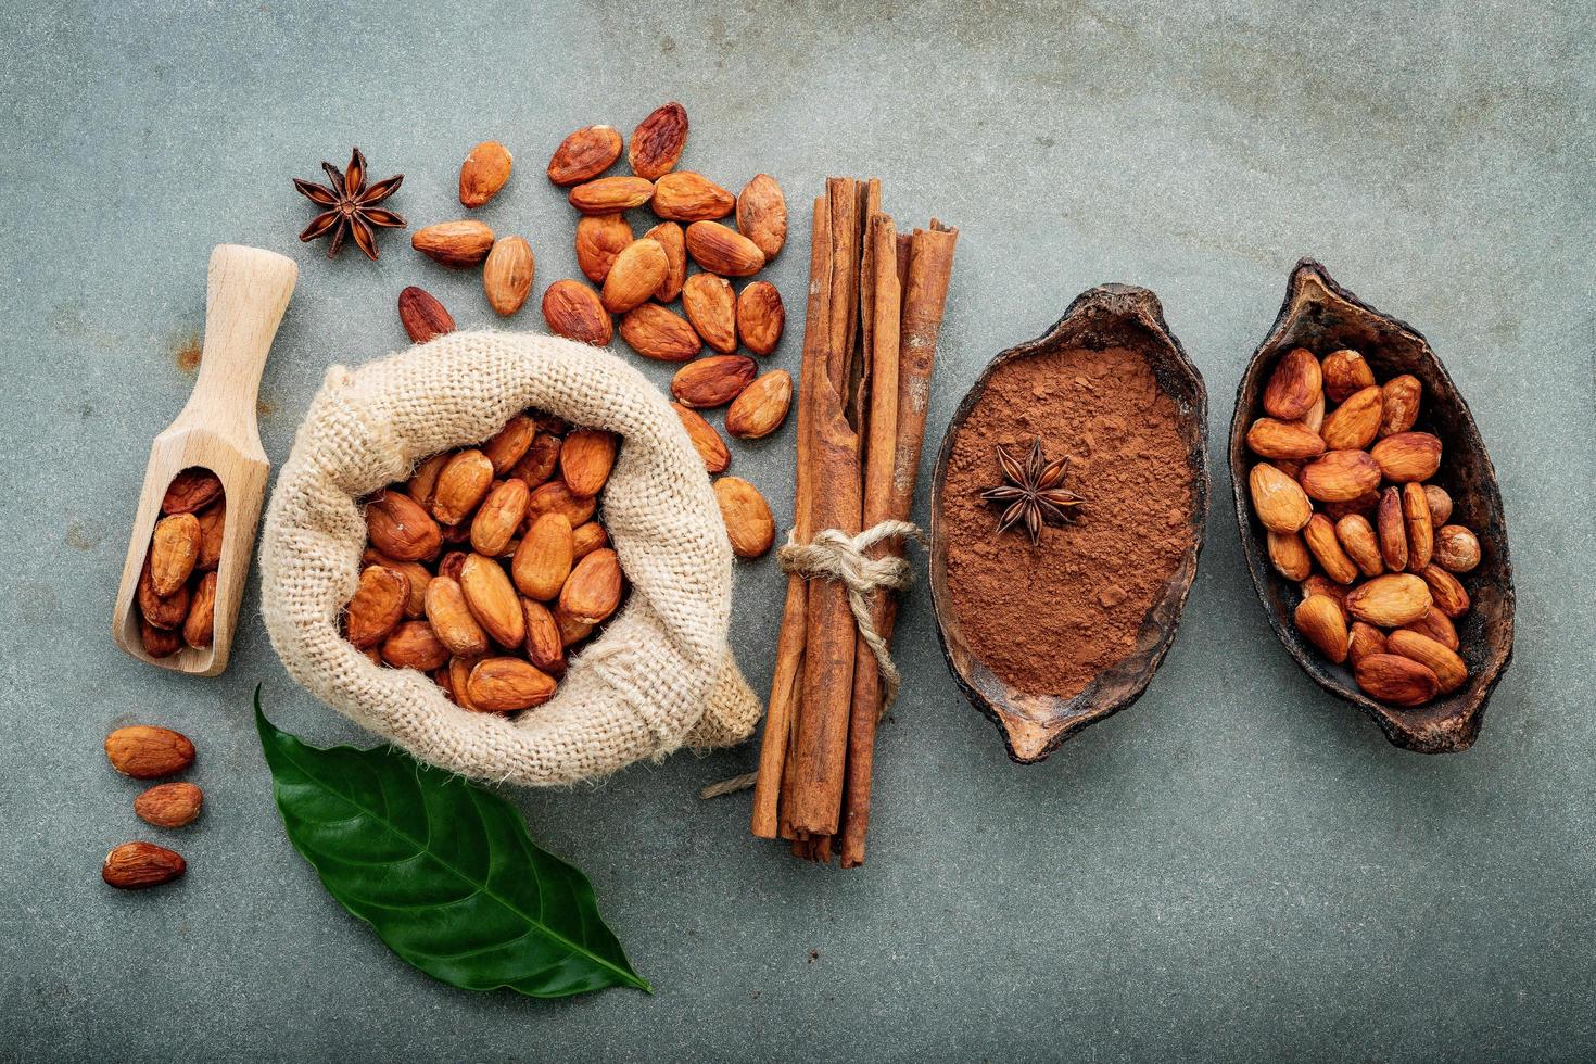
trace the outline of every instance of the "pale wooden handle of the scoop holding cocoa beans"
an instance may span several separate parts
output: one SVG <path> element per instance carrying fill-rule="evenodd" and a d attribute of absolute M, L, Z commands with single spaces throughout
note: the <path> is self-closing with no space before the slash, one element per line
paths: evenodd
<path fill-rule="evenodd" d="M 260 451 L 260 373 L 297 278 L 294 260 L 276 252 L 241 244 L 219 244 L 211 252 L 200 380 L 174 428 L 203 424 Z"/>

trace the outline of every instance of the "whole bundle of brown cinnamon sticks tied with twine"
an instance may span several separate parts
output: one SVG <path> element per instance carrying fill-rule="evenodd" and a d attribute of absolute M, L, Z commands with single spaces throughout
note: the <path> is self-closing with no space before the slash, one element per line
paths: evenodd
<path fill-rule="evenodd" d="M 833 177 L 814 201 L 798 405 L 795 541 L 908 520 L 958 230 L 899 234 L 881 182 Z M 902 538 L 871 547 L 902 557 Z M 897 600 L 878 590 L 876 632 Z M 753 834 L 844 868 L 865 860 L 883 681 L 847 589 L 792 574 L 753 790 Z"/>

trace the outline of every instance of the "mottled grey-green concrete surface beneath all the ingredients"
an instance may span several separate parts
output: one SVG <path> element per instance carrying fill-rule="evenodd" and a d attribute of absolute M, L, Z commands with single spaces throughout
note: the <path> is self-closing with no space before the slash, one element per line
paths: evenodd
<path fill-rule="evenodd" d="M 0 1059 L 1596 1053 L 1590 5 L 0 8 Z M 107 633 L 148 440 L 192 383 L 177 356 L 206 255 L 300 262 L 262 388 L 281 461 L 329 362 L 402 343 L 405 284 L 492 321 L 476 274 L 402 236 L 377 265 L 298 246 L 289 177 L 359 144 L 426 223 L 458 212 L 466 148 L 501 139 L 519 171 L 484 217 L 531 239 L 541 292 L 575 271 L 547 153 L 667 97 L 691 113 L 691 166 L 733 187 L 764 169 L 803 204 L 825 174 L 878 174 L 902 222 L 962 228 L 932 443 L 991 354 L 1101 281 L 1163 298 L 1215 443 L 1299 255 L 1422 329 L 1515 534 L 1518 656 L 1478 747 L 1403 753 L 1298 672 L 1216 461 L 1167 664 L 1050 763 L 1004 759 L 918 593 L 867 869 L 798 865 L 749 837 L 745 799 L 696 798 L 750 750 L 678 756 L 517 796 L 591 873 L 653 997 L 476 995 L 396 960 L 273 812 L 255 683 L 286 726 L 365 739 L 284 676 L 254 590 L 220 680 L 139 665 Z M 771 273 L 792 306 L 806 242 Z M 782 514 L 790 445 L 788 428 L 736 456 Z M 742 569 L 736 649 L 758 684 L 777 584 L 769 560 Z M 211 802 L 176 836 L 190 876 L 120 895 L 99 860 L 152 830 L 101 739 L 132 719 L 195 737 Z"/>

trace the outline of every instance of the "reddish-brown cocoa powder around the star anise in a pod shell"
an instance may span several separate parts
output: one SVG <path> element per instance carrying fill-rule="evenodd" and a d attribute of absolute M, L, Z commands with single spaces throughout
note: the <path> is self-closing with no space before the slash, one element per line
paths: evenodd
<path fill-rule="evenodd" d="M 1175 402 L 1128 348 L 1065 349 L 998 368 L 959 428 L 943 480 L 946 585 L 969 649 L 1028 694 L 1074 697 L 1135 651 L 1191 544 L 1191 466 Z M 1069 456 L 1073 525 L 996 534 L 998 445 Z"/>

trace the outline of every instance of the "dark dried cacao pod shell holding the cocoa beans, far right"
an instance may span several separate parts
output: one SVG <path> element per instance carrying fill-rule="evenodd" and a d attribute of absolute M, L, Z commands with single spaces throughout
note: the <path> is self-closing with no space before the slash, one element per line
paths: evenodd
<path fill-rule="evenodd" d="M 1460 654 L 1468 680 L 1414 708 L 1382 705 L 1358 689 L 1347 665 L 1325 660 L 1291 624 L 1301 590 L 1269 563 L 1264 528 L 1246 498 L 1246 471 L 1256 461 L 1246 432 L 1262 410 L 1262 391 L 1275 362 L 1294 348 L 1323 357 L 1347 348 L 1358 351 L 1382 384 L 1408 375 L 1422 386 L 1417 423 L 1401 429 L 1430 432 L 1441 442 L 1441 466 L 1435 483 L 1456 506 L 1456 520 L 1479 536 L 1479 566 L 1462 577 L 1473 600 L 1459 617 Z M 1302 672 L 1320 688 L 1368 713 L 1385 737 L 1404 750 L 1454 753 L 1468 750 L 1479 735 L 1492 688 L 1513 656 L 1513 563 L 1508 557 L 1507 522 L 1495 471 L 1473 415 L 1428 341 L 1406 322 L 1360 301 L 1320 263 L 1301 260 L 1291 271 L 1286 298 L 1274 327 L 1253 353 L 1235 394 L 1231 420 L 1231 479 L 1235 485 L 1235 520 L 1258 598 L 1269 624 Z"/>

